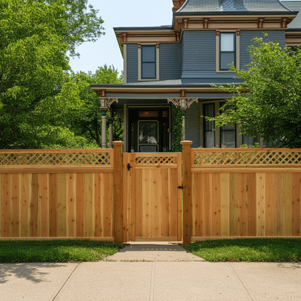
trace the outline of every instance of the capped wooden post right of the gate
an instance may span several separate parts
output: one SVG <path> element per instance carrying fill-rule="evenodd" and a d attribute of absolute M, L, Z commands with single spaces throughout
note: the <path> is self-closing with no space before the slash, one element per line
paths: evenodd
<path fill-rule="evenodd" d="M 183 145 L 183 245 L 191 243 L 191 144 L 181 141 Z"/>

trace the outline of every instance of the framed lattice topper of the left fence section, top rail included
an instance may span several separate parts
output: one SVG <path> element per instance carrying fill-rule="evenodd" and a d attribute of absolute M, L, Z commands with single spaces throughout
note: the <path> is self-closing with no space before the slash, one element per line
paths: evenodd
<path fill-rule="evenodd" d="M 113 149 L 0 151 L 3 165 L 110 165 Z"/>

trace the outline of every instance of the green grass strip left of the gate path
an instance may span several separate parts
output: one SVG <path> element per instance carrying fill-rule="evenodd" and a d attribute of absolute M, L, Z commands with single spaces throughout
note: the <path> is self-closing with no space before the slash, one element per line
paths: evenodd
<path fill-rule="evenodd" d="M 102 260 L 123 244 L 95 240 L 0 240 L 0 263 Z"/>

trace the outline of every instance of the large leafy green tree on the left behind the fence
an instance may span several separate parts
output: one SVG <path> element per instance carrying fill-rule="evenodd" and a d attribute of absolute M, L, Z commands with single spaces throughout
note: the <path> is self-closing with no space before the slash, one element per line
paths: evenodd
<path fill-rule="evenodd" d="M 51 141 L 51 120 L 65 107 L 82 104 L 82 83 L 67 80 L 67 51 L 95 40 L 103 20 L 87 0 L 0 2 L 0 148 L 44 148 Z M 77 6 L 78 5 L 78 6 Z M 47 132 L 48 131 L 48 132 Z M 55 132 L 55 131 L 54 131 Z M 60 137 L 70 131 L 61 128 Z M 73 138 L 72 138 L 73 137 Z M 62 141 L 62 139 L 61 139 Z M 82 141 L 82 144 L 86 142 Z M 64 146 L 64 145 L 63 145 Z M 68 147 L 68 143 L 65 142 Z"/>

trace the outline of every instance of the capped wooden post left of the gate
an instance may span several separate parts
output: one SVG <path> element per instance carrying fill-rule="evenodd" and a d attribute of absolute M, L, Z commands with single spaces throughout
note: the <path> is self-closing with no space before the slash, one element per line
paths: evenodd
<path fill-rule="evenodd" d="M 123 141 L 114 141 L 114 241 L 123 243 Z"/>

